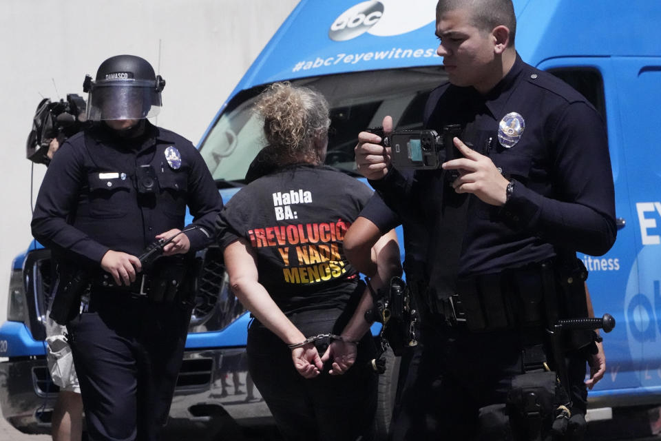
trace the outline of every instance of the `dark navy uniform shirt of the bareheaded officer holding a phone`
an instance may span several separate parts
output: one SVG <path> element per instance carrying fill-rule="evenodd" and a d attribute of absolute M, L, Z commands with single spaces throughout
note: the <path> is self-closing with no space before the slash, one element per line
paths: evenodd
<path fill-rule="evenodd" d="M 517 54 L 510 72 L 486 95 L 450 83 L 434 90 L 424 123 L 439 133 L 444 125 L 461 124 L 462 141 L 515 181 L 503 207 L 472 196 L 460 275 L 539 262 L 554 256 L 555 247 L 591 255 L 610 249 L 616 223 L 605 127 L 594 107 L 569 85 Z M 499 139 L 501 127 L 505 145 Z M 508 127 L 514 128 L 510 139 Z M 390 170 L 370 183 L 401 216 L 423 221 L 433 232 L 443 194 L 440 175 L 440 170 L 417 171 L 406 182 Z M 430 246 L 443 252 L 441 243 Z"/>

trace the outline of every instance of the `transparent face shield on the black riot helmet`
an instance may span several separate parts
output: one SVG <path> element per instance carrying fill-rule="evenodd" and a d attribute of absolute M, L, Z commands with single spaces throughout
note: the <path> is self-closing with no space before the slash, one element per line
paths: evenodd
<path fill-rule="evenodd" d="M 156 81 L 120 79 L 92 81 L 87 96 L 87 119 L 145 119 L 160 112 Z"/>

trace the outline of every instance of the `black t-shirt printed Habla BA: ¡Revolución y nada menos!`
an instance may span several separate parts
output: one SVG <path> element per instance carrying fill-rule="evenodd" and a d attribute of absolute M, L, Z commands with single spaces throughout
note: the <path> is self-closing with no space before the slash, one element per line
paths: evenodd
<path fill-rule="evenodd" d="M 285 314 L 344 307 L 358 281 L 344 256 L 348 227 L 372 190 L 330 167 L 293 165 L 235 194 L 218 219 L 227 247 L 245 238 L 259 281 Z"/>

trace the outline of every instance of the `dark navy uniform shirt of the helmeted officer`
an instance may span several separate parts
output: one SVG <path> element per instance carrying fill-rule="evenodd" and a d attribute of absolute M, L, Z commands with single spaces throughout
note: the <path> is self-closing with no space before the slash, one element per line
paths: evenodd
<path fill-rule="evenodd" d="M 156 172 L 154 194 L 138 194 L 140 165 Z M 222 199 L 190 141 L 148 121 L 136 139 L 97 125 L 72 136 L 54 156 L 39 190 L 32 234 L 57 254 L 98 267 L 109 249 L 140 256 L 156 234 L 183 229 L 186 206 L 193 225 L 213 235 Z M 200 229 L 185 234 L 191 251 L 210 243 Z"/>

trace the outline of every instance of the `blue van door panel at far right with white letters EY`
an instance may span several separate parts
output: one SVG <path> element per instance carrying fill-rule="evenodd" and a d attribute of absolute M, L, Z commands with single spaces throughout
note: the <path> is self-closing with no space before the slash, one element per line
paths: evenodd
<path fill-rule="evenodd" d="M 625 296 L 627 343 L 644 393 L 661 393 L 661 58 L 613 57 L 635 255 Z M 619 238 L 618 238 L 619 240 Z"/>

